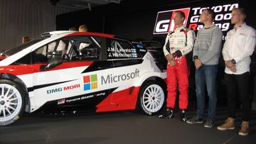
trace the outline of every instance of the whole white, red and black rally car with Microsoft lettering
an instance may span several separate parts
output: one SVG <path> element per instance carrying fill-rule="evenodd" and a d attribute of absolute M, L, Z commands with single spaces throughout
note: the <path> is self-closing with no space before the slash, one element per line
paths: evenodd
<path fill-rule="evenodd" d="M 43 33 L 0 57 L 0 126 L 23 111 L 82 106 L 158 113 L 166 72 L 140 43 L 103 33 Z"/>

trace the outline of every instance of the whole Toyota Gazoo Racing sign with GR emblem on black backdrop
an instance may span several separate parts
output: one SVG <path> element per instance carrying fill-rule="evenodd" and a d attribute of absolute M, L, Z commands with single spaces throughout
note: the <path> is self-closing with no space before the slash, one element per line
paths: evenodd
<path fill-rule="evenodd" d="M 188 28 L 196 31 L 200 28 L 203 28 L 203 23 L 198 24 L 199 16 L 204 9 L 213 9 L 215 12 L 214 23 L 215 26 L 218 26 L 222 31 L 228 31 L 230 29 L 230 19 L 231 12 L 233 8 L 238 8 L 238 4 L 223 4 L 219 6 L 203 6 L 203 7 L 193 7 L 186 9 L 175 9 L 171 11 L 159 11 L 156 17 L 156 23 L 154 27 L 154 34 L 163 34 L 169 33 L 169 31 L 173 31 L 174 23 L 172 23 L 174 11 L 183 11 L 186 15 L 186 21 L 184 26 L 186 26 L 186 22 L 188 23 Z M 191 9 L 191 12 L 187 9 Z M 186 13 L 185 11 L 188 11 Z M 188 17 L 187 17 L 188 16 Z M 224 33 L 224 35 L 226 35 Z"/>

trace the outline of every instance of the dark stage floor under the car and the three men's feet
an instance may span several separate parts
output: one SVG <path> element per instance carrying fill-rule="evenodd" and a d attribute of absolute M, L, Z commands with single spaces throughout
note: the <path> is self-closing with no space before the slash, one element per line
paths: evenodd
<path fill-rule="evenodd" d="M 226 107 L 217 109 L 216 126 L 226 118 Z M 250 135 L 240 136 L 240 116 L 235 130 L 218 131 L 203 124 L 159 119 L 133 111 L 111 113 L 25 113 L 11 126 L 0 127 L 0 143 L 256 143 L 256 111 L 252 111 Z M 193 112 L 188 111 L 188 117 Z"/>

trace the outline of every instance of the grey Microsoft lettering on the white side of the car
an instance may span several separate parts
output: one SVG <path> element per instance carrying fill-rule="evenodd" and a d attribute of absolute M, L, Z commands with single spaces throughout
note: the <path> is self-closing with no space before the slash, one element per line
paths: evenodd
<path fill-rule="evenodd" d="M 129 79 L 134 79 L 136 77 L 139 77 L 138 69 L 136 69 L 134 72 L 129 72 L 127 74 L 119 74 L 119 75 L 107 74 L 107 76 L 101 77 L 101 84 L 112 84 L 114 82 L 126 81 Z"/>

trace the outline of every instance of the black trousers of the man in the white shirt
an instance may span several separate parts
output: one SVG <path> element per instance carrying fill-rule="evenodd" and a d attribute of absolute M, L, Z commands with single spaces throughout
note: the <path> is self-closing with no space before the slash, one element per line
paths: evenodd
<path fill-rule="evenodd" d="M 228 116 L 235 118 L 235 107 L 237 104 L 236 96 L 238 94 L 242 104 L 242 121 L 250 121 L 250 74 L 225 74 L 225 82 L 228 96 Z"/>

